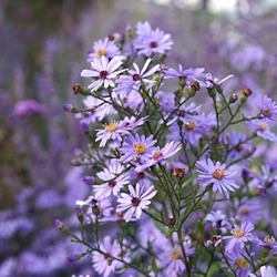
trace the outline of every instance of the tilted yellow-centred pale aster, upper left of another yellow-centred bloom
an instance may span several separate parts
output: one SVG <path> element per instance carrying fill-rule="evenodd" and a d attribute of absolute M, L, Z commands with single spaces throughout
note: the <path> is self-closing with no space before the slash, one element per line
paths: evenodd
<path fill-rule="evenodd" d="M 104 129 L 96 129 L 96 140 L 101 141 L 100 147 L 104 147 L 109 140 L 113 140 L 116 143 L 122 141 L 122 135 L 130 134 L 130 127 L 125 126 L 123 122 L 112 121 L 110 124 L 105 124 Z"/>

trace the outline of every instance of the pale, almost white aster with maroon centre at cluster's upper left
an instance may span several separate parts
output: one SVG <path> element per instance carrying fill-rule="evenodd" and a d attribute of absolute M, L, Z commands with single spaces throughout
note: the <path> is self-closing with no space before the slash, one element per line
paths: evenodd
<path fill-rule="evenodd" d="M 122 64 L 122 60 L 116 55 L 110 62 L 106 57 L 102 55 L 101 59 L 93 59 L 90 70 L 83 70 L 81 76 L 95 78 L 88 88 L 91 91 L 96 91 L 101 85 L 104 88 L 114 88 L 114 79 L 117 74 L 125 70 L 117 70 Z M 117 70 L 117 71 L 116 71 Z"/>

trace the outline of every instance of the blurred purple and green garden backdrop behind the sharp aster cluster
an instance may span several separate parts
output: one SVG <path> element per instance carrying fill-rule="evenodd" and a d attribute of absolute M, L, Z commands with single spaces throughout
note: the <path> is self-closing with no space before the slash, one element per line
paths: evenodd
<path fill-rule="evenodd" d="M 93 42 L 137 21 L 172 34 L 171 66 L 234 74 L 226 90 L 276 100 L 275 0 L 1 0 L 1 277 L 94 276 L 90 260 L 66 260 L 78 248 L 54 227 L 74 228 L 74 203 L 89 193 L 71 165 L 88 141 L 62 106 L 81 104 L 71 88 Z"/>

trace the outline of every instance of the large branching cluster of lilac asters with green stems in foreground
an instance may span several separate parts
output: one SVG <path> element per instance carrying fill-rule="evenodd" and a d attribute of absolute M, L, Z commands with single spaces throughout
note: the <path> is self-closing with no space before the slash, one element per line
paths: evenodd
<path fill-rule="evenodd" d="M 225 92 L 232 74 L 171 68 L 172 45 L 148 22 L 95 42 L 88 85 L 73 86 L 83 106 L 64 107 L 90 141 L 72 161 L 90 192 L 75 202 L 80 230 L 58 227 L 85 246 L 74 260 L 89 256 L 105 277 L 271 274 L 276 166 L 265 153 L 277 104 L 259 95 L 244 109 L 255 92 Z"/>

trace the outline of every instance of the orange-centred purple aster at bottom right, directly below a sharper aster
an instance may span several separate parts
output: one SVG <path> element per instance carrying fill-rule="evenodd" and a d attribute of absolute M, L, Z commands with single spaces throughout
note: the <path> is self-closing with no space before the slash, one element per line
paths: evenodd
<path fill-rule="evenodd" d="M 229 264 L 235 269 L 237 277 L 246 277 L 252 270 L 252 267 L 245 259 L 245 256 L 247 256 L 247 254 L 238 248 L 235 248 L 232 253 L 226 255 Z"/>

